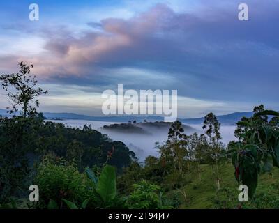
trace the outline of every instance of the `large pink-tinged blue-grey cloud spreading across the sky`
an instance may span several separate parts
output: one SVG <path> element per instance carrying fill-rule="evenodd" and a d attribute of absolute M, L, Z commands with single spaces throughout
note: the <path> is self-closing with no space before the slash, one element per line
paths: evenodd
<path fill-rule="evenodd" d="M 86 22 L 84 30 L 44 25 L 37 33 L 45 40 L 43 52 L 7 52 L 0 66 L 33 63 L 47 83 L 100 89 L 120 82 L 162 89 L 167 83 L 197 100 L 278 102 L 279 2 L 248 0 L 246 22 L 237 19 L 238 1 L 189 2 L 191 10 L 178 10 L 181 1 L 173 3 L 175 9 L 156 4 L 133 16 Z"/>

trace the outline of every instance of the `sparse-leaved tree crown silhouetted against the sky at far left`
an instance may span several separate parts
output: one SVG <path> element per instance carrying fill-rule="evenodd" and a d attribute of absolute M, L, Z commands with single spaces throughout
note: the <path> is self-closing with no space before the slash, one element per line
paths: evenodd
<path fill-rule="evenodd" d="M 11 107 L 8 111 L 13 114 L 18 111 L 18 107 L 21 107 L 20 114 L 26 118 L 27 116 L 32 116 L 37 114 L 36 107 L 38 107 L 39 102 L 36 99 L 39 95 L 47 94 L 47 91 L 43 89 L 36 89 L 36 76 L 31 76 L 31 68 L 33 65 L 27 66 L 25 63 L 21 62 L 19 64 L 20 71 L 16 74 L 1 75 L 0 81 L 3 89 L 8 91 L 8 98 L 10 100 Z M 9 87 L 13 88 L 13 91 L 9 91 Z M 35 106 L 32 106 L 33 103 Z"/>

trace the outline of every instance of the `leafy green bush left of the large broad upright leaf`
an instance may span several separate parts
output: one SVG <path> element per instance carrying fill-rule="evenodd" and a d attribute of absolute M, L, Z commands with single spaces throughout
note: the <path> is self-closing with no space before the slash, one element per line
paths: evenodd
<path fill-rule="evenodd" d="M 67 164 L 65 160 L 55 162 L 45 158 L 38 167 L 36 185 L 40 192 L 40 208 L 47 207 L 50 200 L 59 208 L 66 208 L 62 199 L 80 204 L 89 199 L 89 208 L 98 206 L 98 195 L 93 182 L 85 174 L 80 174 L 75 164 Z"/>

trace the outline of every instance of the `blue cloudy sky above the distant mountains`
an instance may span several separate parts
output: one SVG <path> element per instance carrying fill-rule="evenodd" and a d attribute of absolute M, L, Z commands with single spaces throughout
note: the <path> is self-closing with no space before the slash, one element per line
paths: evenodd
<path fill-rule="evenodd" d="M 29 20 L 29 5 L 39 20 Z M 238 19 L 240 3 L 249 20 Z M 107 89 L 177 90 L 179 117 L 279 110 L 278 0 L 10 0 L 0 74 L 33 64 L 43 112 L 102 116 Z M 0 108 L 7 106 L 0 91 Z"/>

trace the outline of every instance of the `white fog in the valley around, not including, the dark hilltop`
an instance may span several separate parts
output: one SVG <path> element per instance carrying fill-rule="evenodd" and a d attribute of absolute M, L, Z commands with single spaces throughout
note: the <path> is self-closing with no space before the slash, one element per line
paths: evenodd
<path fill-rule="evenodd" d="M 156 142 L 162 144 L 167 140 L 167 132 L 168 128 L 162 128 L 158 130 L 158 128 L 146 128 L 142 127 L 150 134 L 137 134 L 137 133 L 123 133 L 116 132 L 114 130 L 105 130 L 103 129 L 103 125 L 111 125 L 115 122 L 104 122 L 104 121 L 85 121 L 85 120 L 49 120 L 56 123 L 63 123 L 67 127 L 70 128 L 83 128 L 84 125 L 91 125 L 93 129 L 102 132 L 103 134 L 107 134 L 110 139 L 114 141 L 123 141 L 124 144 L 131 151 L 133 151 L 136 156 L 139 158 L 139 161 L 144 161 L 145 157 L 149 155 L 158 156 L 158 151 L 155 148 Z M 188 125 L 187 123 L 183 123 L 184 125 Z M 202 125 L 189 125 L 193 129 L 185 131 L 186 134 L 193 134 L 197 132 L 198 134 L 202 134 Z M 235 139 L 234 137 L 234 125 L 221 125 L 220 132 L 223 137 L 221 141 L 227 144 L 229 141 Z"/>

